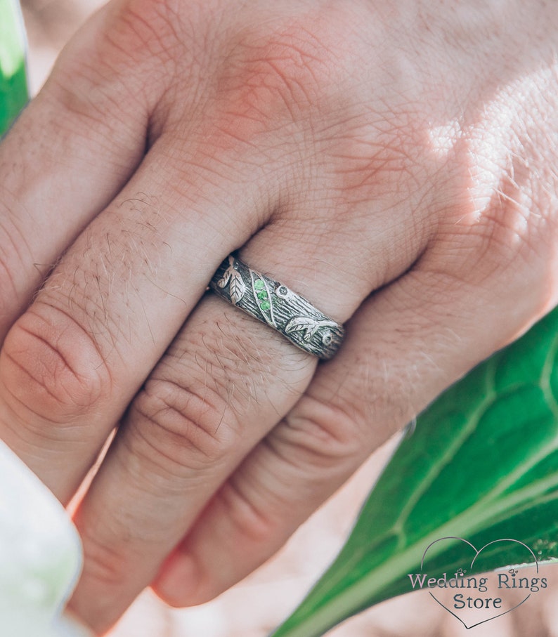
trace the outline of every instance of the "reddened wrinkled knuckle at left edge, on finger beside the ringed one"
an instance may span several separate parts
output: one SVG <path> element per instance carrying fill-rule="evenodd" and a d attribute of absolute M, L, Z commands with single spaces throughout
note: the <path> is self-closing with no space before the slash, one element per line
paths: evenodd
<path fill-rule="evenodd" d="M 6 400 L 23 421 L 31 412 L 58 425 L 71 423 L 110 390 L 108 368 L 90 334 L 43 303 L 15 322 L 1 360 Z"/>

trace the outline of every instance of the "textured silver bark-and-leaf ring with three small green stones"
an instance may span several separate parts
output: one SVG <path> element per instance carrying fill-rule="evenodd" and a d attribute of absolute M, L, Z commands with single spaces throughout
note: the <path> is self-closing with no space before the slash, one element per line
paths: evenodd
<path fill-rule="evenodd" d="M 215 272 L 209 288 L 283 334 L 305 352 L 329 360 L 342 343 L 342 324 L 321 313 L 304 296 L 252 270 L 233 254 Z"/>

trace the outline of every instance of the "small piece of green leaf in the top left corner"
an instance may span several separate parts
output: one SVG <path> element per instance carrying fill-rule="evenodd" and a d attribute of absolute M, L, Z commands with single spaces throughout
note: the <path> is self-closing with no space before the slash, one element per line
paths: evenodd
<path fill-rule="evenodd" d="M 27 99 L 25 34 L 19 5 L 15 0 L 0 0 L 0 136 Z"/>

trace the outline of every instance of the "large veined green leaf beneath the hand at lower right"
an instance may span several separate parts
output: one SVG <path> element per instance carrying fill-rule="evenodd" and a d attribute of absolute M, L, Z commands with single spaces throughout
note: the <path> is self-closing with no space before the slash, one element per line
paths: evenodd
<path fill-rule="evenodd" d="M 318 637 L 409 592 L 408 574 L 421 572 L 441 538 L 477 549 L 513 538 L 538 562 L 558 558 L 557 352 L 558 309 L 421 414 L 339 556 L 273 637 Z M 436 542 L 429 576 L 470 560 L 464 542 Z M 468 574 L 528 561 L 524 546 L 494 542 Z"/>

